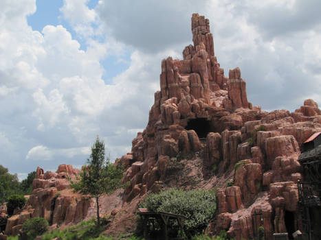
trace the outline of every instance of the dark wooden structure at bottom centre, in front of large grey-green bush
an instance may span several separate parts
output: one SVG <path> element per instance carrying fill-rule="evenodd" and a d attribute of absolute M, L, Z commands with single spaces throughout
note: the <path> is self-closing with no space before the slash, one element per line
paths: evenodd
<path fill-rule="evenodd" d="M 180 232 L 178 239 L 184 239 L 184 220 L 188 219 L 183 215 L 165 213 L 165 212 L 148 212 L 146 208 L 138 208 L 137 215 L 142 217 L 144 226 L 145 239 L 172 239 L 169 238 L 169 230 L 175 230 L 170 221 L 176 221 Z M 159 229 L 155 229 L 159 227 Z M 153 235 L 154 234 L 154 235 Z M 177 239 L 177 236 L 175 237 Z"/>

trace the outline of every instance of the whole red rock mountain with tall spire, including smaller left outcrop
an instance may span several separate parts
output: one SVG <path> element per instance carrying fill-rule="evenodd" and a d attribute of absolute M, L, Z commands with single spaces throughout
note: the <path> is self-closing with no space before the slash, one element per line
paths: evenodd
<path fill-rule="evenodd" d="M 162 60 L 160 91 L 148 125 L 133 139 L 131 152 L 116 160 L 126 167 L 123 182 L 131 185 L 100 201 L 102 214 L 114 217 L 107 232 L 133 230 L 137 203 L 147 193 L 170 187 L 217 188 L 210 234 L 224 229 L 230 237 L 249 239 L 263 225 L 272 239 L 272 233 L 287 231 L 286 214 L 299 229 L 298 156 L 302 143 L 321 131 L 318 104 L 308 99 L 295 112 L 262 111 L 247 100 L 239 68 L 225 77 L 214 56 L 209 21 L 199 14 L 192 15 L 192 41 L 183 60 Z M 64 178 L 76 173 L 69 165 L 59 166 L 56 173 L 43 174 L 38 168 L 28 204 L 8 219 L 7 233 L 31 216 L 49 219 L 53 214 L 53 224 L 93 216 L 95 203 L 80 201 L 67 189 Z M 54 199 L 56 193 L 60 195 Z"/>

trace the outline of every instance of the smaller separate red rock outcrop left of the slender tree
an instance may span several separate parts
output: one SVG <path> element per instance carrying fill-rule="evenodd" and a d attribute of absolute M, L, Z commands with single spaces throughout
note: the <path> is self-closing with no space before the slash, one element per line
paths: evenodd
<path fill-rule="evenodd" d="M 59 225 L 76 224 L 85 219 L 93 201 L 84 201 L 81 195 L 69 189 L 67 178 L 74 180 L 76 173 L 79 170 L 71 165 L 59 165 L 56 173 L 44 173 L 38 167 L 32 183 L 32 194 L 21 211 L 8 218 L 5 234 L 17 235 L 23 222 L 31 217 L 44 217 L 50 223 Z"/>

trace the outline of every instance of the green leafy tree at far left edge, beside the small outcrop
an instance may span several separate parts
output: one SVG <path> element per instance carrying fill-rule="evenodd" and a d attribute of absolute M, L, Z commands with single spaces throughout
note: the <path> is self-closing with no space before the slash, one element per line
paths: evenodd
<path fill-rule="evenodd" d="M 18 176 L 10 174 L 8 168 L 0 165 L 0 203 L 6 202 L 13 194 L 21 194 Z"/>

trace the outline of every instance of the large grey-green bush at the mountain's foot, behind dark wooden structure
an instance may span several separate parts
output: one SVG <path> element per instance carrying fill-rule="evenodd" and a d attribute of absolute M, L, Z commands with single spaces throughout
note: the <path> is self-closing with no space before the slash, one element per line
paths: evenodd
<path fill-rule="evenodd" d="M 147 208 L 148 211 L 163 211 L 188 217 L 184 226 L 186 234 L 192 236 L 201 233 L 214 216 L 216 194 L 212 190 L 169 189 L 148 195 L 140 203 L 140 207 Z"/>

